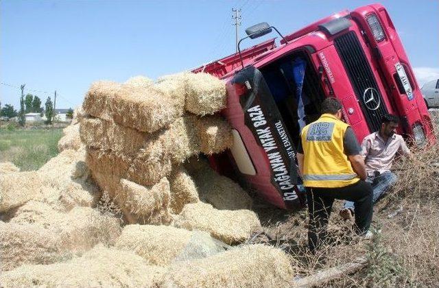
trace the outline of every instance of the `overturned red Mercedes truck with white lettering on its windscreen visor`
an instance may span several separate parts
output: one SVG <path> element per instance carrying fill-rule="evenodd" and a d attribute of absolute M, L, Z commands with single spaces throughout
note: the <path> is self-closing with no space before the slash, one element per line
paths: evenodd
<path fill-rule="evenodd" d="M 278 32 L 260 23 L 246 30 L 246 38 L 273 29 Z M 401 117 L 399 133 L 414 143 L 434 137 L 412 67 L 382 5 L 345 10 L 278 34 L 279 45 L 273 38 L 193 70 L 226 81 L 222 115 L 232 125 L 234 145 L 210 159 L 220 173 L 280 208 L 304 206 L 296 145 L 329 96 L 342 102 L 344 121 L 360 143 L 379 130 L 385 113 Z"/>

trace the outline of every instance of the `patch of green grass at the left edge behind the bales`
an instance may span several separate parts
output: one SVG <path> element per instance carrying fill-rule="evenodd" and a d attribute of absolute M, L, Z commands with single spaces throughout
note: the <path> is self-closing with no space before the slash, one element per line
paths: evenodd
<path fill-rule="evenodd" d="M 0 129 L 0 162 L 10 161 L 21 171 L 37 170 L 58 154 L 62 128 Z"/>

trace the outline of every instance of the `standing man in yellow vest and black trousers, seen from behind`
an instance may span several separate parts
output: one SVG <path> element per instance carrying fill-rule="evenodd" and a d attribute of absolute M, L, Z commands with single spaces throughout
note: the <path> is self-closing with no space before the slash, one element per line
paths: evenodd
<path fill-rule="evenodd" d="M 335 199 L 354 202 L 355 229 L 368 232 L 372 221 L 372 187 L 365 182 L 364 159 L 352 128 L 341 121 L 342 104 L 334 97 L 322 101 L 322 116 L 306 125 L 298 145 L 298 165 L 307 189 L 308 244 L 321 245 Z"/>

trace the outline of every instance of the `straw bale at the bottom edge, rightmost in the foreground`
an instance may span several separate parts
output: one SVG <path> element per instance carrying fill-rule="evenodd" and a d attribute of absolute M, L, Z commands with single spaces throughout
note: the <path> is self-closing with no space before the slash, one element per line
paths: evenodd
<path fill-rule="evenodd" d="M 290 287 L 288 256 L 266 245 L 246 245 L 169 267 L 165 287 Z"/>

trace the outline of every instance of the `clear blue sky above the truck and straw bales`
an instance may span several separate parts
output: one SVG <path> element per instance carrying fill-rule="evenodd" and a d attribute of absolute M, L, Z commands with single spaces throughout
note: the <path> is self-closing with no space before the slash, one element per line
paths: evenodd
<path fill-rule="evenodd" d="M 372 1 L 0 1 L 0 102 L 19 108 L 20 85 L 56 108 L 82 104 L 97 80 L 124 82 L 198 67 L 235 52 L 259 22 L 282 34 Z M 439 77 L 439 1 L 381 1 L 420 85 Z M 272 34 L 270 34 L 272 36 Z M 269 37 L 269 36 L 266 36 Z M 244 47 L 261 40 L 247 40 Z"/>

